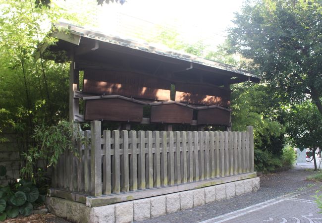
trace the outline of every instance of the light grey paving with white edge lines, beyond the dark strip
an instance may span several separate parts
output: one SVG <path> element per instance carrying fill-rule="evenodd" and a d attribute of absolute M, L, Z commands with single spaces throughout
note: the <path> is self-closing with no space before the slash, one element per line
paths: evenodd
<path fill-rule="evenodd" d="M 315 193 L 316 188 L 291 193 L 201 223 L 321 223 Z"/>

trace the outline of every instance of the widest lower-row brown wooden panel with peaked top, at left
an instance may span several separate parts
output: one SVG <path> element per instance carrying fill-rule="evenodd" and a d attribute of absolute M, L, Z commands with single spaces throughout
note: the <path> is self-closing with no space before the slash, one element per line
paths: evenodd
<path fill-rule="evenodd" d="M 86 100 L 86 120 L 141 122 L 143 105 L 122 99 Z"/>

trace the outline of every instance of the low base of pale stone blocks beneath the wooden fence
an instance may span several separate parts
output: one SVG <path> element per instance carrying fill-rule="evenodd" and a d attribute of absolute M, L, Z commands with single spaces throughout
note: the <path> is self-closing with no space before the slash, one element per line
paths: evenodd
<path fill-rule="evenodd" d="M 50 213 L 75 223 L 129 223 L 229 199 L 259 188 L 260 178 L 255 177 L 101 207 L 89 208 L 85 204 L 56 197 L 46 197 L 46 205 Z"/>

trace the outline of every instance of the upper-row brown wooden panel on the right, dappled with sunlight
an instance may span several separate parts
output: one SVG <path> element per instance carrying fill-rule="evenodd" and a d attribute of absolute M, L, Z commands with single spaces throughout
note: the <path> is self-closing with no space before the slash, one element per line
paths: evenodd
<path fill-rule="evenodd" d="M 205 84 L 175 84 L 175 101 L 196 105 L 230 106 L 230 90 Z"/>

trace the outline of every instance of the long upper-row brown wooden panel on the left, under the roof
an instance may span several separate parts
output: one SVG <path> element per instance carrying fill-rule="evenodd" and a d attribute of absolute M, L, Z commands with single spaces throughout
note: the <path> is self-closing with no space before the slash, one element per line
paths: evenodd
<path fill-rule="evenodd" d="M 85 70 L 84 93 L 170 100 L 171 82 L 126 71 Z"/>

